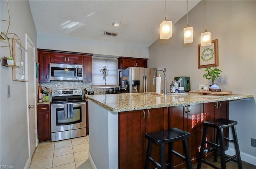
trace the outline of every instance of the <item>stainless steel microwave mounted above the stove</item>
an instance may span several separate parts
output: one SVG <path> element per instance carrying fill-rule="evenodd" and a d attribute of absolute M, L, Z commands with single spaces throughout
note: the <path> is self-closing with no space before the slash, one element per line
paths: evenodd
<path fill-rule="evenodd" d="M 50 63 L 51 81 L 82 81 L 83 66 Z"/>

